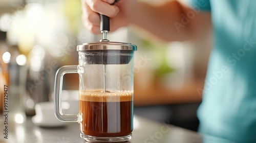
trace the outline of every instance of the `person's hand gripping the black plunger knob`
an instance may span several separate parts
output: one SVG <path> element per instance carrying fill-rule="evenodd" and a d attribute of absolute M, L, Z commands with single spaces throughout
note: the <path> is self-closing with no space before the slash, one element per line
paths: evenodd
<path fill-rule="evenodd" d="M 100 34 L 99 14 L 103 14 L 110 17 L 110 31 L 127 26 L 135 2 L 120 0 L 115 5 L 111 5 L 114 0 L 81 0 L 83 24 L 90 32 Z"/>

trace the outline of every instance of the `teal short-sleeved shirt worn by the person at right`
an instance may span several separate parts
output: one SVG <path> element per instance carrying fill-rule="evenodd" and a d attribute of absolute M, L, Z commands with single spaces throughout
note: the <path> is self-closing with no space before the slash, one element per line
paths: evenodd
<path fill-rule="evenodd" d="M 214 31 L 199 132 L 256 142 L 256 0 L 187 1 L 211 13 Z"/>

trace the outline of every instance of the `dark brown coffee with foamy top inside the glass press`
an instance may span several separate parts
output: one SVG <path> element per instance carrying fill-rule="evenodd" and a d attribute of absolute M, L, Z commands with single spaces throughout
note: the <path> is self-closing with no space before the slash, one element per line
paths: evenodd
<path fill-rule="evenodd" d="M 132 92 L 80 92 L 80 130 L 92 136 L 124 136 L 133 130 Z"/>

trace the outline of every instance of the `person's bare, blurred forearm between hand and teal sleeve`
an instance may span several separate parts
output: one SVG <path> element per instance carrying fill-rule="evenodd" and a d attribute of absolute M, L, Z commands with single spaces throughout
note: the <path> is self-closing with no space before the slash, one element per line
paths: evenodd
<path fill-rule="evenodd" d="M 162 5 L 150 5 L 138 2 L 132 10 L 131 23 L 166 41 L 188 40 L 198 37 L 210 26 L 210 16 L 206 13 L 195 13 L 185 24 L 182 18 L 193 11 L 177 1 Z M 183 16 L 182 16 L 183 15 Z M 183 19 L 184 20 L 184 19 Z M 206 23 L 201 20 L 207 20 Z"/>

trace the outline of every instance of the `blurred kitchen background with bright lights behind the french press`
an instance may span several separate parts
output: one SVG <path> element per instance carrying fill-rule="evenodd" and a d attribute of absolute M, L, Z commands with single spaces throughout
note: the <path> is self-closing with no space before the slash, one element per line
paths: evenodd
<path fill-rule="evenodd" d="M 1 0 L 1 112 L 2 87 L 8 85 L 10 112 L 18 118 L 34 115 L 36 103 L 52 100 L 56 70 L 78 64 L 76 45 L 101 38 L 82 26 L 80 0 Z M 210 36 L 166 43 L 127 27 L 108 34 L 108 39 L 138 46 L 134 113 L 197 130 Z M 64 81 L 63 89 L 78 89 L 77 74 L 65 75 Z"/>

